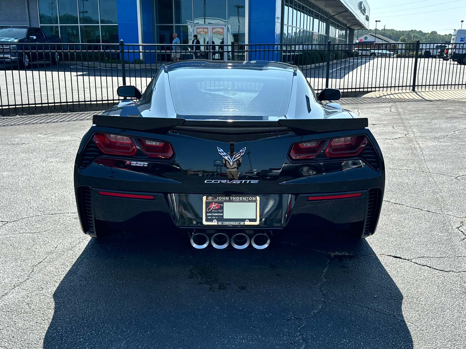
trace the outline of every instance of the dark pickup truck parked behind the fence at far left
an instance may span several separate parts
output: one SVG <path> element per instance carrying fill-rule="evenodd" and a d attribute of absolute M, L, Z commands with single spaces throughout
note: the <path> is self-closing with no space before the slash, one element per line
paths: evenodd
<path fill-rule="evenodd" d="M 48 61 L 58 64 L 61 46 L 60 38 L 48 37 L 41 28 L 0 27 L 0 63 L 18 65 L 20 68 L 31 66 L 32 62 Z"/>

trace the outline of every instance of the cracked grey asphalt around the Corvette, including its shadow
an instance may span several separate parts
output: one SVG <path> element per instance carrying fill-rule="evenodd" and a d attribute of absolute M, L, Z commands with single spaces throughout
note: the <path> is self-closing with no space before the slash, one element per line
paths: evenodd
<path fill-rule="evenodd" d="M 376 234 L 264 251 L 193 251 L 158 222 L 91 239 L 73 192 L 91 121 L 3 118 L 0 347 L 466 348 L 465 102 L 352 103 L 384 153 Z"/>

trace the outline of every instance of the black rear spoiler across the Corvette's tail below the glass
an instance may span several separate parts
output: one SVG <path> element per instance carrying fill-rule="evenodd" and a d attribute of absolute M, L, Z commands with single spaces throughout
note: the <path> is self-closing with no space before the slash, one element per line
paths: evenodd
<path fill-rule="evenodd" d="M 240 128 L 247 128 L 247 133 L 254 131 L 286 131 L 292 130 L 295 134 L 315 134 L 324 132 L 336 132 L 358 130 L 369 125 L 367 118 L 356 119 L 298 119 L 279 121 L 210 121 L 210 120 L 185 120 L 182 118 L 144 118 L 135 116 L 94 115 L 92 122 L 96 126 L 121 128 L 125 130 L 145 131 L 157 134 L 166 134 L 171 129 L 203 129 L 218 130 L 220 133 L 241 133 Z M 233 133 L 231 132 L 231 133 Z"/>

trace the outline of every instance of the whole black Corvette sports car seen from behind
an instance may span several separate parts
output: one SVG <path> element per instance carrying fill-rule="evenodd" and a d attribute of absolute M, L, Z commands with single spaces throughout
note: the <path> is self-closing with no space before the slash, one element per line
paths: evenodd
<path fill-rule="evenodd" d="M 122 86 L 75 162 L 82 230 L 165 234 L 194 248 L 267 248 L 274 236 L 374 234 L 384 160 L 367 119 L 294 66 L 181 61 L 142 94 Z"/>

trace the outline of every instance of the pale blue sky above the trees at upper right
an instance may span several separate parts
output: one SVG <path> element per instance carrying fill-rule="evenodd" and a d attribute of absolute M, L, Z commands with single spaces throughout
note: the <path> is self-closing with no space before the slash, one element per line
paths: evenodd
<path fill-rule="evenodd" d="M 465 20 L 466 0 L 367 0 L 370 7 L 370 28 L 397 30 L 422 30 L 450 34 L 461 27 Z"/>

